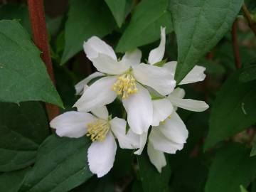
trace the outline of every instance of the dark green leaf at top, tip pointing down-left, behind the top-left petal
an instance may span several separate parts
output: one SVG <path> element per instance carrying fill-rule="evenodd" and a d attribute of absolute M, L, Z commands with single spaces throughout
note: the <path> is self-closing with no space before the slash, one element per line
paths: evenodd
<path fill-rule="evenodd" d="M 82 43 L 88 38 L 102 38 L 114 27 L 114 18 L 104 1 L 70 1 L 68 21 L 65 23 L 65 50 L 61 63 L 65 63 L 82 50 Z"/>

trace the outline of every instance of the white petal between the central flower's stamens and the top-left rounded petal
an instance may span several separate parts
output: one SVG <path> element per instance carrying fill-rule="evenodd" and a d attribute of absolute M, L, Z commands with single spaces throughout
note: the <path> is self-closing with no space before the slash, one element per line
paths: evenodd
<path fill-rule="evenodd" d="M 99 54 L 97 58 L 92 58 L 92 64 L 102 73 L 119 75 L 129 69 L 122 61 L 117 61 L 105 54 Z"/>

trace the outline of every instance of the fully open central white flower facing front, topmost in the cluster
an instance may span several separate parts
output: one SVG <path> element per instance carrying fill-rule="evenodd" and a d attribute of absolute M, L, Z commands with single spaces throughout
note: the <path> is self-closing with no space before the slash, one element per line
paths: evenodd
<path fill-rule="evenodd" d="M 165 28 L 161 28 L 161 43 L 149 53 L 149 64 L 162 60 L 164 46 Z M 87 87 L 74 107 L 88 112 L 113 102 L 120 95 L 129 127 L 137 134 L 147 132 L 153 118 L 153 107 L 145 86 L 168 95 L 176 85 L 169 68 L 140 63 L 142 52 L 139 49 L 125 53 L 122 60 L 117 60 L 114 50 L 96 36 L 84 43 L 84 50 L 95 68 L 107 76 Z"/>

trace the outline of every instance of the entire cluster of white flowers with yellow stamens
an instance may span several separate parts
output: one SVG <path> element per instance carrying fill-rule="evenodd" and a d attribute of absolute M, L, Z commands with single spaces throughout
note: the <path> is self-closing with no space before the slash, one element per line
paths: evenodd
<path fill-rule="evenodd" d="M 75 85 L 77 94 L 82 95 L 74 105 L 78 111 L 60 114 L 50 127 L 60 137 L 87 136 L 92 140 L 87 159 L 90 171 L 98 177 L 107 174 L 114 164 L 115 138 L 122 149 L 137 149 L 137 155 L 142 154 L 147 143 L 149 159 L 161 172 L 166 166 L 164 152 L 175 154 L 188 138 L 177 108 L 195 112 L 208 109 L 206 102 L 183 98 L 185 91 L 176 87 L 174 80 L 176 61 L 158 65 L 164 58 L 165 43 L 165 28 L 161 28 L 161 42 L 150 51 L 147 63 L 141 63 L 139 49 L 118 60 L 114 50 L 100 38 L 93 36 L 84 43 L 87 58 L 97 72 Z M 204 80 L 204 70 L 196 65 L 178 85 Z M 87 85 L 95 78 L 92 85 Z M 106 105 L 116 99 L 127 113 L 128 130 L 125 119 L 112 119 L 107 110 Z"/>

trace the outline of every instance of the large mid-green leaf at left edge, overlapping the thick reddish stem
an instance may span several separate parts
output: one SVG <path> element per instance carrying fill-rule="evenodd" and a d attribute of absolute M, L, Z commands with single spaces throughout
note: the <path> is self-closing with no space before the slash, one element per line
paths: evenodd
<path fill-rule="evenodd" d="M 63 107 L 40 51 L 18 21 L 0 21 L 0 101 L 40 100 Z"/>

